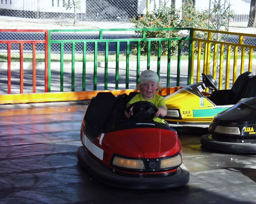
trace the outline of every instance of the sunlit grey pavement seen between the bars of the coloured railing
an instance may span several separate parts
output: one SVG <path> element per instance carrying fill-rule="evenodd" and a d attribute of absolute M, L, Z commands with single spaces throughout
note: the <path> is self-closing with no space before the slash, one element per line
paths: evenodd
<path fill-rule="evenodd" d="M 248 70 L 248 60 L 245 60 L 245 71 Z M 176 86 L 177 80 L 177 61 L 171 61 L 170 86 Z M 240 75 L 241 60 L 237 60 L 237 76 Z M 97 90 L 104 90 L 105 63 L 97 63 Z M 147 63 L 140 62 L 140 71 L 146 70 Z M 93 62 L 86 63 L 86 90 L 93 90 Z M 108 90 L 115 89 L 115 62 L 108 63 Z M 129 89 L 136 88 L 136 62 L 130 61 L 129 64 Z M 197 75 L 197 60 L 194 61 L 194 83 Z M 225 75 L 226 64 L 223 64 L 223 75 Z M 150 69 L 156 71 L 157 61 L 150 62 Z M 71 71 L 72 63 L 64 63 L 64 83 L 63 91 L 71 91 Z M 203 61 L 201 60 L 200 73 L 203 72 Z M 211 70 L 212 72 L 212 70 Z M 82 91 L 82 62 L 75 63 L 75 91 Z M 167 61 L 161 61 L 160 83 L 166 87 Z M 233 61 L 230 61 L 230 87 L 232 86 Z M 256 73 L 256 59 L 252 61 L 252 73 Z M 125 89 L 126 62 L 119 63 L 119 89 Z M 18 94 L 20 89 L 19 63 L 11 63 L 11 94 Z M 218 75 L 217 75 L 218 77 Z M 33 72 L 32 63 L 24 63 L 24 93 L 33 92 Z M 44 63 L 36 65 L 36 93 L 44 92 Z M 188 61 L 180 62 L 180 86 L 186 86 L 188 80 Z M 0 94 L 8 93 L 7 86 L 7 63 L 0 63 Z M 60 63 L 51 63 L 51 92 L 60 91 Z M 224 83 L 224 81 L 223 81 Z M 224 85 L 223 85 L 224 87 Z"/>

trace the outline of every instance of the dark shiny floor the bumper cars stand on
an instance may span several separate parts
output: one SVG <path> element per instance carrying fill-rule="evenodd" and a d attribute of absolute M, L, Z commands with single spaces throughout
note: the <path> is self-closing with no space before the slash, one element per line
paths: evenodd
<path fill-rule="evenodd" d="M 87 102 L 0 106 L 0 203 L 256 203 L 256 156 L 203 148 L 203 132 L 179 134 L 185 186 L 127 190 L 90 179 L 76 156 Z"/>

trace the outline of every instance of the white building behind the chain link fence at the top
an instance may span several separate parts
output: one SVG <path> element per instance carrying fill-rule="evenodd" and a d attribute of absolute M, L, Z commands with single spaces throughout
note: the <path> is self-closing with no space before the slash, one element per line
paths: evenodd
<path fill-rule="evenodd" d="M 64 0 L 0 0 L 0 15 L 10 15 L 16 17 L 28 17 L 23 16 L 24 12 L 26 15 L 30 15 L 30 18 L 69 18 L 74 13 L 74 9 L 66 9 L 63 7 Z M 65 0 L 67 3 L 73 0 Z M 159 5 L 159 0 L 116 0 L 112 1 L 115 4 L 109 3 L 107 0 L 80 0 L 80 8 L 76 10 L 78 14 L 82 14 L 82 18 L 93 20 L 95 18 L 103 19 L 109 18 L 115 19 L 120 18 L 127 20 L 127 16 L 131 17 L 137 14 L 146 14 L 146 6 L 148 1 L 149 10 L 153 10 L 154 6 Z M 176 9 L 180 9 L 182 1 L 185 0 L 161 0 L 167 6 L 172 3 Z M 217 0 L 218 2 L 219 0 Z M 221 0 L 221 4 L 227 0 Z M 198 10 L 209 9 L 209 4 L 214 0 L 194 0 L 195 8 Z M 86 5 L 87 4 L 87 5 Z M 118 5 L 119 4 L 119 5 Z M 121 6 L 120 6 L 121 5 Z M 211 5 L 212 6 L 212 5 Z M 244 0 L 230 0 L 231 10 L 235 14 L 246 14 L 250 12 L 250 0 L 246 3 Z M 61 14 L 70 15 L 61 15 Z M 47 17 L 48 16 L 48 17 Z"/>

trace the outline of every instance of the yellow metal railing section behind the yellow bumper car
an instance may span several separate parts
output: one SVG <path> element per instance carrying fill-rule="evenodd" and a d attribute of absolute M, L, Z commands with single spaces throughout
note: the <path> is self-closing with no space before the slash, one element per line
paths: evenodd
<path fill-rule="evenodd" d="M 197 32 L 206 33 L 207 39 L 196 38 Z M 216 36 L 216 34 L 226 35 L 227 38 L 219 39 L 219 41 L 213 40 L 213 35 Z M 223 84 L 224 89 L 229 89 L 230 82 L 232 81 L 233 84 L 237 79 L 237 72 L 244 73 L 246 65 L 247 70 L 255 74 L 256 61 L 253 61 L 253 58 L 256 59 L 256 57 L 255 55 L 253 57 L 253 51 L 256 51 L 256 45 L 248 45 L 248 38 L 256 41 L 256 35 L 253 34 L 194 29 L 193 47 L 195 47 L 195 44 L 198 46 L 192 54 L 192 73 L 194 59 L 197 58 L 196 82 L 200 81 L 201 72 L 209 74 L 211 70 L 213 78 L 218 81 L 218 89 L 221 90 Z M 201 54 L 204 56 L 203 66 L 201 65 Z M 245 59 L 246 56 L 248 56 L 247 60 Z M 238 60 L 238 58 L 240 59 Z M 232 80 L 230 80 L 230 71 L 232 71 Z M 191 82 L 193 83 L 193 79 L 191 79 Z"/>

